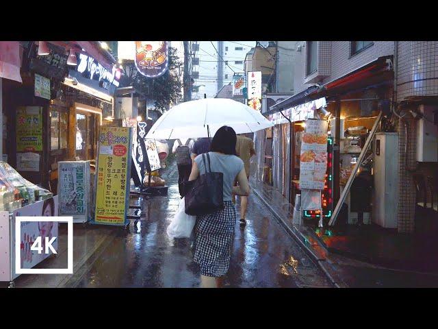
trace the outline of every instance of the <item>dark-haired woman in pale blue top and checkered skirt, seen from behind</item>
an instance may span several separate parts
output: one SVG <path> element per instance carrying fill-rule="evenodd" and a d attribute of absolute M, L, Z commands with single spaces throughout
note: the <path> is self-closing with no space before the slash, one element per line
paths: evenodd
<path fill-rule="evenodd" d="M 233 128 L 223 126 L 214 135 L 208 152 L 211 171 L 224 175 L 224 208 L 196 218 L 194 261 L 201 267 L 201 286 L 219 287 L 220 279 L 230 265 L 231 243 L 235 228 L 235 207 L 232 195 L 249 195 L 250 188 L 244 162 L 235 155 L 236 134 Z M 189 180 L 205 173 L 202 156 L 196 156 Z M 233 187 L 237 180 L 239 186 Z"/>

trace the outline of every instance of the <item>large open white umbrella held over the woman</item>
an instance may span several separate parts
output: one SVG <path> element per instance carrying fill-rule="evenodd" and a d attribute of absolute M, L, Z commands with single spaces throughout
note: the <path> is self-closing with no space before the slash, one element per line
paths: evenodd
<path fill-rule="evenodd" d="M 146 138 L 175 139 L 214 136 L 228 125 L 236 134 L 257 132 L 274 124 L 244 103 L 233 99 L 207 98 L 174 106 L 151 127 Z"/>

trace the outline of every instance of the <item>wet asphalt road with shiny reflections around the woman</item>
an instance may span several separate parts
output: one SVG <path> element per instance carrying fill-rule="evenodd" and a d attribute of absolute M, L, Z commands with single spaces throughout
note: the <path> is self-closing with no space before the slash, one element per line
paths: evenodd
<path fill-rule="evenodd" d="M 179 204 L 173 166 L 164 177 L 168 196 L 145 200 L 145 216 L 137 226 L 131 223 L 128 232 L 114 228 L 99 256 L 75 271 L 64 287 L 199 287 L 190 241 L 166 234 Z M 236 223 L 224 287 L 333 287 L 255 195 L 247 219 L 243 229 Z"/>

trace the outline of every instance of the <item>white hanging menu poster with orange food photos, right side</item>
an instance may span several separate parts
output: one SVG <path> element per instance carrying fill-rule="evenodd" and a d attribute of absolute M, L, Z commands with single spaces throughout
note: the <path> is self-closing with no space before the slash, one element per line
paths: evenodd
<path fill-rule="evenodd" d="M 327 167 L 327 123 L 307 120 L 300 152 L 300 188 L 323 190 Z"/>

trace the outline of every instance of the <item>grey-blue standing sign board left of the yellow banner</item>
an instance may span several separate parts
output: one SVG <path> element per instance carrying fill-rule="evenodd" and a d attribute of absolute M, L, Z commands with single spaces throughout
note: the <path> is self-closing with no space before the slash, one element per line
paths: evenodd
<path fill-rule="evenodd" d="M 86 222 L 90 212 L 90 162 L 58 162 L 57 195 L 60 216 L 73 216 L 73 222 Z"/>

